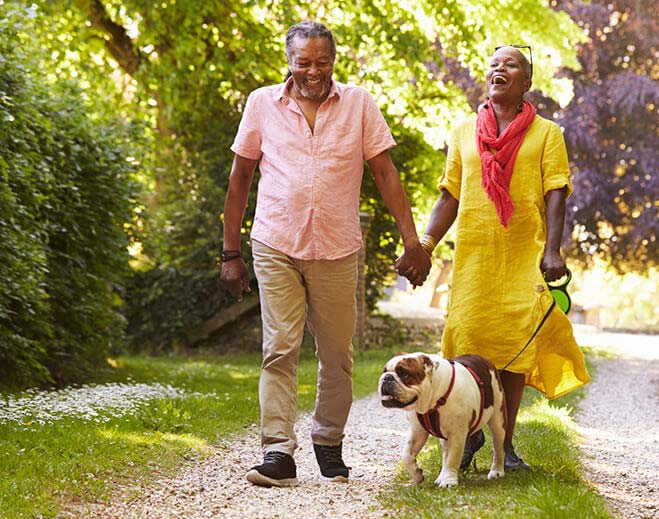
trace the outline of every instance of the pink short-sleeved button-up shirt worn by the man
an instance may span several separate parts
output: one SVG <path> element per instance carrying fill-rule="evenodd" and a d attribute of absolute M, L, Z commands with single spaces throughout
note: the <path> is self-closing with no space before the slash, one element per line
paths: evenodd
<path fill-rule="evenodd" d="M 396 145 L 371 95 L 334 81 L 311 132 L 290 81 L 247 99 L 231 150 L 260 159 L 251 238 L 298 259 L 359 250 L 364 160 Z"/>

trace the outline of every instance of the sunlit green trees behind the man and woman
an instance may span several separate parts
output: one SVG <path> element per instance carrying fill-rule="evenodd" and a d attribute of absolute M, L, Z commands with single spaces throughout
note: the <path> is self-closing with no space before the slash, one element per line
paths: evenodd
<path fill-rule="evenodd" d="M 538 84 L 558 95 L 565 88 L 552 76 L 559 65 L 576 64 L 573 45 L 580 34 L 569 17 L 540 0 L 515 6 L 497 0 L 52 0 L 43 9 L 58 34 L 43 38 L 44 46 L 61 53 L 64 43 L 71 51 L 62 71 L 81 74 L 90 89 L 107 93 L 126 117 L 147 121 L 153 130 L 145 158 L 153 193 L 139 221 L 143 254 L 128 291 L 127 318 L 134 341 L 154 348 L 175 344 L 186 328 L 229 302 L 212 293 L 228 148 L 248 93 L 282 81 L 290 25 L 313 18 L 335 32 L 335 77 L 364 86 L 383 109 L 420 227 L 434 202 L 446 136 L 471 109 L 464 85 L 447 76 L 446 66 L 480 76 L 496 44 L 523 34 L 554 56 L 538 64 L 544 73 Z M 108 72 L 121 88 L 107 82 Z M 373 216 L 366 244 L 372 307 L 393 277 L 399 236 L 368 173 L 361 205 Z"/>

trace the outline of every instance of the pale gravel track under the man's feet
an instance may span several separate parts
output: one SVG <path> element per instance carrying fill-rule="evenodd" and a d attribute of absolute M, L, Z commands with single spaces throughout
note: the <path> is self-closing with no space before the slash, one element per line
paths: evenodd
<path fill-rule="evenodd" d="M 354 466 L 350 483 L 321 480 L 314 458 L 311 417 L 298 421 L 296 488 L 260 488 L 245 480 L 247 470 L 261 462 L 257 428 L 203 462 L 192 464 L 173 479 L 139 488 L 139 500 L 75 505 L 62 514 L 71 518 L 173 519 L 232 518 L 382 518 L 375 496 L 391 481 L 400 461 L 404 413 L 385 409 L 377 396 L 354 403 L 346 433 L 344 459 Z M 133 495 L 134 497 L 134 495 Z"/>

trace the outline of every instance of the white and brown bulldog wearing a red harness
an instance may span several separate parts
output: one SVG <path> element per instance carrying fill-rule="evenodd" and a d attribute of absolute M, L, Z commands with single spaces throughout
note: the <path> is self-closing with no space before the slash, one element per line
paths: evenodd
<path fill-rule="evenodd" d="M 440 438 L 440 487 L 458 484 L 458 469 L 467 436 L 485 424 L 492 432 L 494 456 L 488 479 L 502 478 L 506 405 L 499 373 L 480 355 L 447 360 L 440 355 L 395 356 L 379 383 L 382 405 L 407 411 L 410 429 L 403 446 L 403 464 L 416 483 L 423 481 L 416 456 L 429 435 Z"/>

